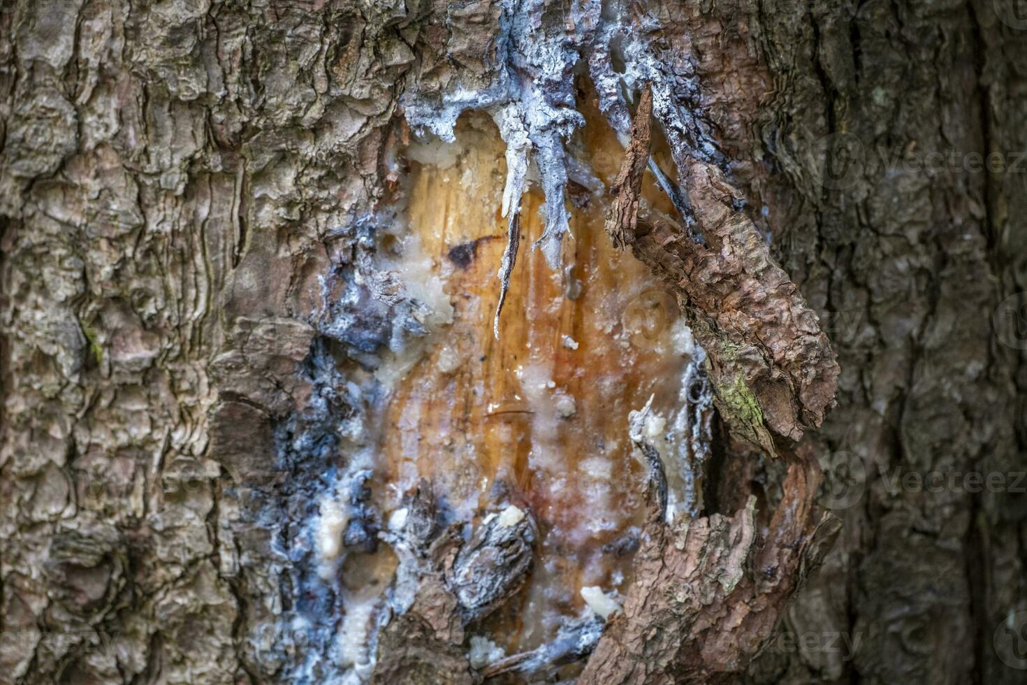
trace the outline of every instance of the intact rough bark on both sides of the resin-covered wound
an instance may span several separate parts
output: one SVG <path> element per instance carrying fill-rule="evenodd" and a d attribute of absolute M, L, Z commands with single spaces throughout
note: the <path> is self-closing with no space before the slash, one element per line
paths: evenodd
<path fill-rule="evenodd" d="M 688 105 L 841 367 L 803 439 L 841 533 L 732 678 L 1024 682 L 1022 2 L 630 7 L 695 77 Z M 539 31 L 577 30 L 558 9 Z M 320 682 L 302 663 L 326 646 L 277 621 L 338 603 L 281 540 L 345 453 L 328 423 L 369 418 L 311 352 L 322 279 L 372 250 L 405 93 L 480 77 L 506 11 L 0 2 L 0 682 Z M 775 462 L 713 467 L 720 511 L 738 484 L 782 499 Z M 893 487 L 909 472 L 1004 485 Z"/>

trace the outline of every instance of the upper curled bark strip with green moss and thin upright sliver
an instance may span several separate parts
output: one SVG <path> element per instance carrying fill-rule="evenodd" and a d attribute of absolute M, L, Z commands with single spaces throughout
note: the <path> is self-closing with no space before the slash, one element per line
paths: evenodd
<path fill-rule="evenodd" d="M 836 355 L 816 314 L 752 221 L 735 208 L 740 193 L 714 164 L 689 158 L 685 174 L 705 243 L 670 219 L 637 218 L 651 111 L 646 88 L 614 184 L 607 232 L 615 245 L 632 244 L 636 257 L 677 291 L 710 355 L 717 406 L 734 433 L 775 454 L 767 427 L 797 441 L 834 406 Z"/>

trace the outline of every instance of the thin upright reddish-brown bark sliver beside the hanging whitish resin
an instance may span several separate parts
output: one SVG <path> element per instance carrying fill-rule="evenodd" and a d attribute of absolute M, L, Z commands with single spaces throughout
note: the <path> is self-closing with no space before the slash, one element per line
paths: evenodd
<path fill-rule="evenodd" d="M 649 163 L 652 88 L 646 85 L 639 99 L 638 111 L 632 121 L 632 138 L 624 150 L 624 162 L 610 189 L 613 201 L 606 213 L 606 232 L 613 246 L 623 249 L 635 241 L 639 198 L 642 195 L 642 175 Z"/>

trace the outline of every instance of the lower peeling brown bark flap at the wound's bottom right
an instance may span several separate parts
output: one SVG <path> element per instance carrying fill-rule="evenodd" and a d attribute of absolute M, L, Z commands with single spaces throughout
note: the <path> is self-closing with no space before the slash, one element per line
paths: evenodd
<path fill-rule="evenodd" d="M 812 455 L 786 458 L 785 497 L 765 539 L 755 498 L 732 517 L 678 517 L 668 525 L 658 485 L 648 488 L 636 580 L 579 685 L 722 683 L 745 669 L 840 528 L 833 517 L 814 519 L 820 471 Z"/>

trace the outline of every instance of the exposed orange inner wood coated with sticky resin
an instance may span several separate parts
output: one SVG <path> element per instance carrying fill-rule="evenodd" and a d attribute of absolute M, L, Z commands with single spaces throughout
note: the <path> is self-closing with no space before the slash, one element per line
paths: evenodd
<path fill-rule="evenodd" d="M 578 143 L 609 186 L 623 155 L 612 131 L 593 120 Z M 626 589 L 631 546 L 621 554 L 611 547 L 639 523 L 643 474 L 627 413 L 650 394 L 657 411 L 677 403 L 683 361 L 670 342 L 677 309 L 630 252 L 610 245 L 605 195 L 583 207 L 568 203 L 565 270 L 551 271 L 531 250 L 544 202 L 533 183 L 496 340 L 504 148 L 482 115 L 461 119 L 458 144 L 462 151 L 448 168 L 411 163 L 409 230 L 445 278 L 454 317 L 395 384 L 382 439 L 384 477 L 393 505 L 423 478 L 459 519 L 478 520 L 505 503 L 531 512 L 539 527 L 536 564 L 524 604 L 509 612 L 519 627 L 505 644 L 528 649 L 551 638 L 560 615 L 580 610 L 581 586 Z M 473 259 L 463 268 L 447 255 L 467 243 Z M 573 398 L 569 416 L 561 415 L 570 409 L 563 397 Z"/>

